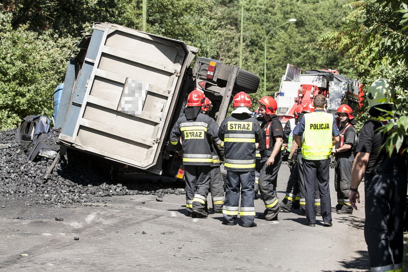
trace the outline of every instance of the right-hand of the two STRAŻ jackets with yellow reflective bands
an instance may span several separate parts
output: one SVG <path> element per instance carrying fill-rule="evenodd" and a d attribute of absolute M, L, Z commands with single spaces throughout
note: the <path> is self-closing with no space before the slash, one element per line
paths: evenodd
<path fill-rule="evenodd" d="M 255 170 L 255 143 L 262 139 L 262 132 L 255 118 L 246 113 L 233 114 L 222 121 L 218 136 L 224 141 L 225 170 Z"/>

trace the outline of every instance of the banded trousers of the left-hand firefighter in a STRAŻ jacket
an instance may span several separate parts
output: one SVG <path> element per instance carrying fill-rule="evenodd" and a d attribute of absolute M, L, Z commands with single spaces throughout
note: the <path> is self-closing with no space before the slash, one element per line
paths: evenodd
<path fill-rule="evenodd" d="M 185 165 L 186 209 L 204 211 L 206 196 L 210 187 L 211 166 Z"/>

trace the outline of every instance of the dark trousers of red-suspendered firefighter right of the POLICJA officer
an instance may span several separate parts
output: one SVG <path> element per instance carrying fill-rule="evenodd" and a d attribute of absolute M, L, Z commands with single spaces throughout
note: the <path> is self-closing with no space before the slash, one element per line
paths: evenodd
<path fill-rule="evenodd" d="M 336 158 L 337 167 L 334 171 L 334 187 L 337 192 L 336 210 L 353 212 L 348 197 L 351 185 L 351 169 L 353 168 L 354 156 L 349 158 Z"/>

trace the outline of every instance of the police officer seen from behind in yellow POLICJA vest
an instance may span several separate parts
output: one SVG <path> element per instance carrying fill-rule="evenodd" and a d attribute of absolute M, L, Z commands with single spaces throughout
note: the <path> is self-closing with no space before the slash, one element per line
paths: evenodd
<path fill-rule="evenodd" d="M 306 114 L 293 131 L 294 140 L 302 148 L 303 181 L 305 183 L 307 225 L 316 226 L 316 211 L 313 195 L 316 178 L 320 192 L 323 225 L 331 227 L 331 200 L 329 188 L 329 156 L 333 145 L 339 141 L 340 131 L 335 117 L 323 111 L 326 106 L 324 95 L 313 100 L 314 112 Z M 301 136 L 303 135 L 303 140 Z"/>

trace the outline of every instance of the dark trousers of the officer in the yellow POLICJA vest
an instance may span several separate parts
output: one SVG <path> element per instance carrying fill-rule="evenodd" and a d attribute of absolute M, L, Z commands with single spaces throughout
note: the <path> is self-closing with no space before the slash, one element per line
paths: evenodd
<path fill-rule="evenodd" d="M 316 189 L 316 178 L 320 192 L 321 212 L 324 222 L 331 222 L 331 200 L 329 189 L 329 159 L 307 160 L 302 159 L 303 179 L 305 182 L 306 218 L 309 223 L 316 222 L 316 211 L 314 204 L 314 193 Z"/>

